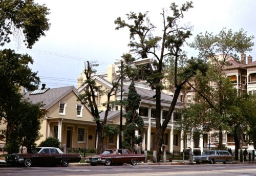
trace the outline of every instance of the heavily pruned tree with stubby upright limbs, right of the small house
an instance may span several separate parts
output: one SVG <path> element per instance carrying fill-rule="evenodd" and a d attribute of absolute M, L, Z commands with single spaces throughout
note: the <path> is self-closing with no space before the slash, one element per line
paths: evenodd
<path fill-rule="evenodd" d="M 97 154 L 100 154 L 103 151 L 103 140 L 105 138 L 105 134 L 108 134 L 105 131 L 105 127 L 109 127 L 106 126 L 106 119 L 108 117 L 109 111 L 111 111 L 112 107 L 120 103 L 119 101 L 111 101 L 111 97 L 116 94 L 116 90 L 119 86 L 119 81 L 121 77 L 119 77 L 115 81 L 112 81 L 112 87 L 110 90 L 103 90 L 102 85 L 98 85 L 96 81 L 93 79 L 93 75 L 95 75 L 96 73 L 94 67 L 97 66 L 98 64 L 92 64 L 89 61 L 85 63 L 84 74 L 86 75 L 86 80 L 83 84 L 86 86 L 84 88 L 84 93 L 79 95 L 79 99 L 87 103 L 91 108 L 92 116 L 97 125 Z M 98 104 L 95 95 L 96 92 L 98 94 L 105 94 L 107 97 L 106 102 L 102 103 L 102 105 L 106 107 L 106 111 L 104 112 L 104 118 L 102 121 L 100 121 L 100 111 L 98 109 Z M 115 130 L 112 131 L 113 133 L 115 133 Z"/>

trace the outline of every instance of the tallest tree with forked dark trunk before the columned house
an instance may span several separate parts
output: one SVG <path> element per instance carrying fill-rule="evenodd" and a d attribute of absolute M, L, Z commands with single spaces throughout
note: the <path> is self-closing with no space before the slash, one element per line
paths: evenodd
<path fill-rule="evenodd" d="M 204 71 L 203 62 L 197 59 L 190 59 L 187 61 L 187 67 L 181 75 L 178 75 L 178 62 L 182 52 L 182 47 L 185 43 L 185 40 L 191 35 L 191 28 L 187 26 L 179 25 L 179 20 L 183 18 L 184 12 L 188 11 L 190 8 L 193 8 L 192 2 L 187 2 L 178 9 L 178 6 L 175 3 L 170 5 L 170 10 L 173 12 L 171 16 L 167 16 L 167 10 L 163 9 L 161 16 L 163 20 L 162 28 L 162 37 L 154 36 L 153 32 L 155 26 L 150 22 L 150 18 L 147 16 L 147 13 L 139 13 L 138 15 L 134 12 L 127 14 L 127 19 L 129 20 L 126 23 L 120 17 L 115 20 L 117 25 L 116 29 L 129 28 L 130 29 L 130 43 L 129 46 L 131 51 L 129 54 L 123 55 L 123 58 L 126 63 L 131 63 L 135 61 L 135 58 L 132 57 L 132 54 L 135 54 L 137 59 L 146 60 L 148 56 L 152 56 L 153 68 L 150 64 L 139 65 L 137 68 L 131 68 L 127 66 L 124 69 L 124 73 L 127 74 L 133 80 L 146 80 L 150 84 L 152 90 L 155 90 L 156 95 L 156 145 L 155 150 L 157 151 L 157 162 L 160 161 L 161 147 L 163 143 L 164 131 L 167 127 L 167 124 L 170 120 L 172 113 L 174 112 L 176 102 L 178 100 L 180 91 L 185 82 L 194 74 L 197 70 Z M 164 58 L 174 57 L 175 60 L 175 73 L 174 73 L 174 86 L 176 88 L 172 103 L 169 107 L 169 111 L 161 123 L 161 91 L 164 89 L 163 81 L 165 79 L 164 75 Z M 137 60 L 136 59 L 136 60 Z M 200 64 L 199 64 L 199 62 Z M 181 76 L 182 81 L 178 82 L 178 77 Z"/>

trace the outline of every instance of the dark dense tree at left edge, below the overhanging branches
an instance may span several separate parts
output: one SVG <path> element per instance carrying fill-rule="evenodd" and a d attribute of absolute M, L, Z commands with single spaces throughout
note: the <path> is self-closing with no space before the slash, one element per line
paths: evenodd
<path fill-rule="evenodd" d="M 27 124 L 21 123 L 22 119 L 20 118 L 24 115 L 23 118 L 26 118 L 29 122 L 34 117 L 38 117 L 38 114 L 35 112 L 40 108 L 39 104 L 35 106 L 32 104 L 29 105 L 29 103 L 23 100 L 23 95 L 19 93 L 20 86 L 25 87 L 27 90 L 34 90 L 39 83 L 39 77 L 37 77 L 37 73 L 32 72 L 28 67 L 28 64 L 33 63 L 33 60 L 27 54 L 15 54 L 13 50 L 1 50 L 0 63 L 0 119 L 4 120 L 7 124 L 5 133 L 6 143 L 19 145 L 22 143 L 22 140 L 18 140 L 19 136 L 25 139 L 26 133 L 19 134 L 16 133 L 15 130 L 23 130 L 23 128 L 28 129 Z M 31 106 L 35 109 L 31 108 Z M 35 113 L 33 117 L 28 116 L 28 113 L 27 115 L 24 114 L 27 111 L 26 108 L 29 108 L 31 112 L 33 109 Z M 24 121 L 26 120 L 24 119 Z M 39 130 L 37 123 L 39 122 L 36 121 L 35 126 L 32 127 L 36 131 Z M 14 126 L 16 127 L 14 128 Z M 32 130 L 29 132 L 31 133 L 27 134 L 28 136 L 34 135 L 34 139 L 38 138 L 38 133 L 35 133 L 35 131 L 32 133 Z M 12 140 L 14 139 L 18 141 L 13 143 Z"/>

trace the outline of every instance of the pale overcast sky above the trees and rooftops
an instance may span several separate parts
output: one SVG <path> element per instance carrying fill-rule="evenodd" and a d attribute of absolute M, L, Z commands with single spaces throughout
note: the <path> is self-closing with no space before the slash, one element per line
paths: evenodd
<path fill-rule="evenodd" d="M 84 69 L 84 62 L 96 62 L 98 72 L 106 71 L 109 64 L 121 59 L 122 54 L 129 52 L 129 30 L 115 30 L 117 17 L 126 20 L 125 14 L 130 12 L 146 12 L 151 23 L 157 26 L 156 35 L 163 27 L 160 13 L 169 9 L 171 3 L 185 3 L 183 0 L 34 0 L 39 5 L 45 4 L 50 9 L 47 16 L 51 27 L 35 43 L 33 49 L 15 42 L 3 48 L 10 48 L 16 53 L 28 53 L 34 63 L 30 65 L 33 72 L 38 72 L 41 83 L 46 87 L 55 88 L 74 85 L 77 77 Z M 247 35 L 256 35 L 256 1 L 254 0 L 195 0 L 194 8 L 184 13 L 181 24 L 194 26 L 187 41 L 193 42 L 200 32 L 218 34 L 223 28 L 233 32 L 241 28 Z M 170 14 L 170 13 L 169 13 Z M 255 43 L 255 39 L 253 40 Z M 197 52 L 185 48 L 187 56 L 196 57 Z M 256 46 L 252 52 L 246 53 L 256 58 Z M 253 61 L 255 60 L 253 58 Z"/>

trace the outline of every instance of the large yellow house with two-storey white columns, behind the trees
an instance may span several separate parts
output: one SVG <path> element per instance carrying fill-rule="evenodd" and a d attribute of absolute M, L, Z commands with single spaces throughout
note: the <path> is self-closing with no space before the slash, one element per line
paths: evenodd
<path fill-rule="evenodd" d="M 110 90 L 112 87 L 112 80 L 113 75 L 116 72 L 117 69 L 119 69 L 120 62 L 116 62 L 115 65 L 109 65 L 108 67 L 108 73 L 102 74 L 102 75 L 94 75 L 92 79 L 95 80 L 96 85 L 102 85 L 102 90 Z M 78 92 L 83 93 L 84 85 L 81 86 L 82 82 L 84 82 L 86 78 L 81 74 L 77 78 L 78 80 Z M 129 92 L 129 86 L 131 82 L 123 82 L 123 100 L 127 99 L 128 92 Z M 155 111 L 156 111 L 156 102 L 155 102 L 155 91 L 151 90 L 150 86 L 147 84 L 144 84 L 142 82 L 136 82 L 135 83 L 136 91 L 141 96 L 141 102 L 140 107 L 138 109 L 139 115 L 142 117 L 144 121 L 144 127 L 142 130 L 138 130 L 136 133 L 137 136 L 141 137 L 141 142 L 139 146 L 142 150 L 152 150 L 155 147 L 155 141 L 157 139 L 156 136 L 156 120 L 155 120 Z M 121 87 L 119 87 L 119 90 Z M 96 94 L 96 102 L 98 105 L 98 108 L 102 111 L 105 111 L 105 107 L 103 107 L 101 104 L 106 102 L 106 96 L 101 93 Z M 117 92 L 115 96 L 112 96 L 112 100 L 120 100 L 120 92 Z M 167 95 L 165 93 L 161 94 L 161 120 L 163 121 L 165 118 L 165 115 L 168 112 L 169 106 L 172 103 L 172 96 Z M 178 101 L 176 104 L 176 109 L 181 108 L 183 105 L 182 102 Z M 123 107 L 122 109 L 123 114 L 126 112 L 126 107 Z M 102 112 L 102 118 L 104 113 Z M 174 129 L 174 122 L 177 120 L 177 117 L 175 114 L 172 115 L 171 120 L 169 121 L 169 124 L 167 125 L 167 128 L 165 130 L 164 135 L 164 143 L 166 150 L 169 152 L 176 151 L 182 151 L 183 150 L 183 139 L 182 139 L 182 132 L 180 130 Z M 112 111 L 108 115 L 107 119 L 108 124 L 113 125 L 120 125 L 120 106 L 114 107 Z M 122 125 L 123 128 L 125 123 L 125 118 L 122 118 Z M 107 137 L 104 141 L 104 144 L 108 147 L 113 146 L 119 146 L 119 135 L 114 137 Z"/>

